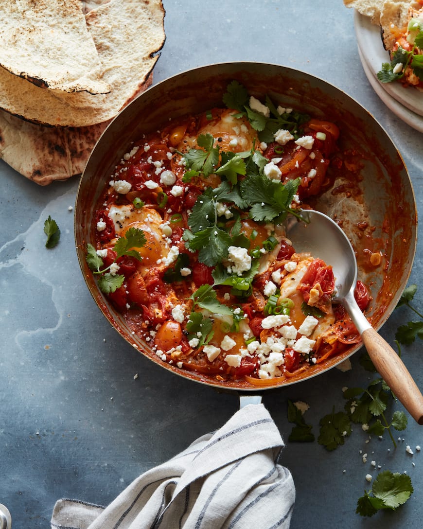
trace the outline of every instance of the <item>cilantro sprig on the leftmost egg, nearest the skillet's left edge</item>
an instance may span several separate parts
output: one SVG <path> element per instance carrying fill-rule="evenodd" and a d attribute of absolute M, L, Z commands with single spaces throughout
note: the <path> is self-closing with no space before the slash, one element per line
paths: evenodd
<path fill-rule="evenodd" d="M 87 244 L 87 254 L 85 259 L 88 268 L 98 276 L 98 287 L 102 292 L 110 294 L 123 285 L 125 276 L 118 275 L 117 273 L 113 274 L 109 270 L 117 259 L 124 256 L 133 257 L 134 259 L 141 261 L 142 257 L 136 248 L 142 248 L 145 242 L 146 239 L 144 232 L 137 228 L 130 227 L 125 235 L 116 241 L 113 247 L 113 250 L 116 252 L 116 257 L 107 267 L 104 267 L 104 261 L 98 256 L 94 246 L 90 243 Z"/>

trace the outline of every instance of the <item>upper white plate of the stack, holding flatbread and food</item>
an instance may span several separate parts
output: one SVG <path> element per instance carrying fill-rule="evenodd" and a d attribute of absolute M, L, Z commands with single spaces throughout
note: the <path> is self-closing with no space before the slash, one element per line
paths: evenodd
<path fill-rule="evenodd" d="M 382 69 L 383 62 L 390 62 L 389 53 L 383 48 L 380 28 L 372 24 L 369 16 L 363 16 L 354 11 L 354 29 L 357 38 L 358 48 L 362 53 L 362 63 L 364 62 L 372 72 L 376 83 L 396 99 L 401 105 L 409 108 L 415 114 L 423 116 L 423 92 L 416 88 L 404 88 L 401 83 L 381 83 L 376 77 L 378 71 Z"/>

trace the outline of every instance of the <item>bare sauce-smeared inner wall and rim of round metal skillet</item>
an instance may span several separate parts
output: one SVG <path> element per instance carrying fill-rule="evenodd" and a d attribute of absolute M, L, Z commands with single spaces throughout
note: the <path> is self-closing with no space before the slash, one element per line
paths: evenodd
<path fill-rule="evenodd" d="M 407 284 L 417 241 L 417 212 L 404 162 L 388 134 L 374 117 L 350 96 L 319 78 L 290 68 L 256 62 L 222 63 L 189 70 L 152 86 L 128 105 L 99 139 L 81 177 L 75 208 L 78 260 L 88 289 L 107 320 L 137 350 L 182 377 L 228 390 L 257 391 L 247 382 L 219 382 L 162 362 L 149 345 L 132 335 L 119 314 L 99 291 L 85 260 L 93 242 L 93 217 L 98 197 L 128 145 L 145 132 L 156 131 L 169 118 L 222 106 L 222 95 L 233 79 L 251 95 L 268 94 L 273 102 L 334 121 L 341 129 L 342 171 L 311 207 L 338 221 L 351 240 L 358 260 L 358 278 L 371 287 L 369 312 L 379 329 L 395 308 Z M 346 178 L 348 176 L 349 178 Z M 351 181 L 355 184 L 351 187 Z M 381 256 L 374 266 L 370 257 Z M 294 384 L 336 366 L 360 349 L 356 343 L 325 363 L 266 389 Z"/>

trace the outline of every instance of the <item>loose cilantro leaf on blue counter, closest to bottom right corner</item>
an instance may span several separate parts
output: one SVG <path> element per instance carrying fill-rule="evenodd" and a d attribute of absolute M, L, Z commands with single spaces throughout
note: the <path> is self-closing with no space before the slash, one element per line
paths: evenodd
<path fill-rule="evenodd" d="M 358 498 L 355 512 L 361 516 L 373 516 L 380 509 L 395 510 L 406 503 L 413 491 L 409 476 L 384 470 L 374 480 L 371 494 L 365 490 L 364 496 Z"/>

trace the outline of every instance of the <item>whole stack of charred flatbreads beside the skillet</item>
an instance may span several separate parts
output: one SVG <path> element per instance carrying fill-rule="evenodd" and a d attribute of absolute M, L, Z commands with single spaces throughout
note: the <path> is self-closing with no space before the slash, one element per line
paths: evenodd
<path fill-rule="evenodd" d="M 81 174 L 164 40 L 161 0 L 0 0 L 0 157 L 40 185 Z"/>

